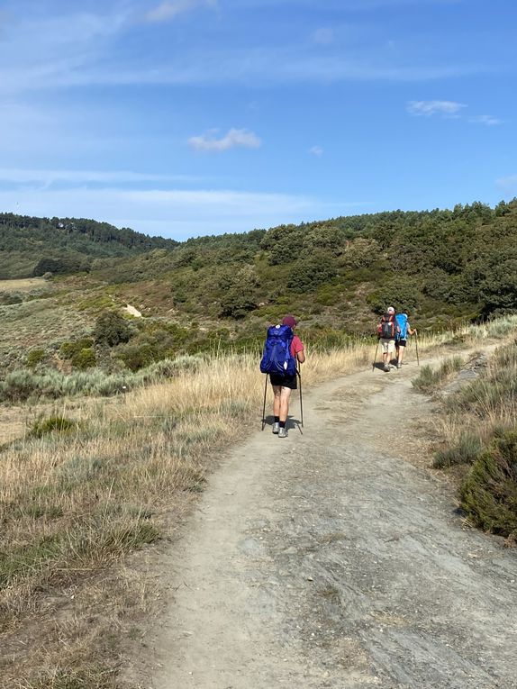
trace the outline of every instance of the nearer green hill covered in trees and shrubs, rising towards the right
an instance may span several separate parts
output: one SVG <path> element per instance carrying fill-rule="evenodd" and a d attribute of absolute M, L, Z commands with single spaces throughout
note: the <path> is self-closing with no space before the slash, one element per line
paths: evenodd
<path fill-rule="evenodd" d="M 305 323 L 368 331 L 394 304 L 448 326 L 517 309 L 517 201 L 202 237 L 104 264 L 92 277 L 133 294 L 155 281 L 154 313 L 172 308 L 183 321 L 262 327 L 292 311 Z"/>

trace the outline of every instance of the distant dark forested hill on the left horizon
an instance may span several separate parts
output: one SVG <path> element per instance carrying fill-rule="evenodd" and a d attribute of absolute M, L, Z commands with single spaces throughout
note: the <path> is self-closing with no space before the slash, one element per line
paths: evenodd
<path fill-rule="evenodd" d="M 0 213 L 0 279 L 88 270 L 94 258 L 173 249 L 177 241 L 84 218 Z"/>

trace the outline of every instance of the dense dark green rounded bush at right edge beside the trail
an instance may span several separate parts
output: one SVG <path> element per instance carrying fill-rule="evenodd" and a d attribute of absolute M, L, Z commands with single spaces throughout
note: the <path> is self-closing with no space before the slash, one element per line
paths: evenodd
<path fill-rule="evenodd" d="M 481 529 L 517 536 L 517 432 L 494 440 L 476 459 L 459 495 L 462 508 Z"/>

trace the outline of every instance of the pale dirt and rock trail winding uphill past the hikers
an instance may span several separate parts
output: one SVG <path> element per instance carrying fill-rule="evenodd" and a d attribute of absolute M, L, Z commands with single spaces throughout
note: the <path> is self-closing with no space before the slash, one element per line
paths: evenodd
<path fill-rule="evenodd" d="M 418 464 L 431 411 L 415 374 L 323 385 L 303 435 L 267 427 L 231 451 L 168 555 L 142 686 L 517 687 L 517 553 L 463 530 L 452 495 L 402 458 Z"/>

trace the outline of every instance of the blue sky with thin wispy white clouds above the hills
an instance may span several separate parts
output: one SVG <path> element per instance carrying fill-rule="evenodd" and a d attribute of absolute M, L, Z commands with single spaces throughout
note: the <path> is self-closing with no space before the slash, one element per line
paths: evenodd
<path fill-rule="evenodd" d="M 0 210 L 182 240 L 517 195 L 512 0 L 8 0 Z"/>

